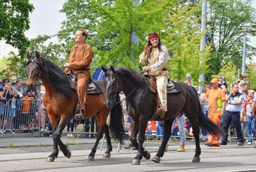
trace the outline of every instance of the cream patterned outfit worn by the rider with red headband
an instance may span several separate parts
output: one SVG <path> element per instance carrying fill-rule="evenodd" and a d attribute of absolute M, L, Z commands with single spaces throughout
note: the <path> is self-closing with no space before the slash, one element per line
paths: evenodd
<path fill-rule="evenodd" d="M 157 35 L 158 36 L 158 35 Z M 161 45 L 161 50 L 158 47 L 152 48 L 149 55 L 143 52 L 140 55 L 140 63 L 148 62 L 150 66 L 149 73 L 156 77 L 157 93 L 163 106 L 163 111 L 167 111 L 167 94 L 166 87 L 168 83 L 167 62 L 169 59 L 168 48 Z"/>

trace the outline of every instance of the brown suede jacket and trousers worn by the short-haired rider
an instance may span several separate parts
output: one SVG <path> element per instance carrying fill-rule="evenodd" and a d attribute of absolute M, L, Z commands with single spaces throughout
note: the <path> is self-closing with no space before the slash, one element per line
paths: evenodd
<path fill-rule="evenodd" d="M 88 43 L 78 47 L 74 45 L 71 48 L 68 62 L 70 63 L 69 69 L 74 71 L 77 76 L 77 94 L 81 110 L 84 110 L 86 103 L 86 90 L 90 80 L 90 65 L 92 63 L 93 51 Z"/>

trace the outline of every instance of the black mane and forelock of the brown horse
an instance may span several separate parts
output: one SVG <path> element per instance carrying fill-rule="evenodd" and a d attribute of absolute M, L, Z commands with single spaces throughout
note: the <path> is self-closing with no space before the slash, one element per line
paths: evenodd
<path fill-rule="evenodd" d="M 71 99 L 72 87 L 70 85 L 68 76 L 60 67 L 58 67 L 53 62 L 42 56 L 40 56 L 40 58 L 42 59 L 43 63 L 38 58 L 36 58 L 36 56 L 33 56 L 29 59 L 28 64 L 32 60 L 35 61 L 36 64 L 38 64 L 42 73 L 44 73 L 44 75 L 47 75 L 47 77 L 49 78 L 49 84 L 60 90 L 65 96 Z"/>

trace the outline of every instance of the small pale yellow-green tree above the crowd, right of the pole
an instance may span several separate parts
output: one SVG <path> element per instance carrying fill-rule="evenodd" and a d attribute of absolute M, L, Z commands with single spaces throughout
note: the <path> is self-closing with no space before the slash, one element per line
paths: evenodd
<path fill-rule="evenodd" d="M 212 75 L 212 78 L 219 78 L 219 76 L 224 76 L 227 82 L 228 90 L 233 83 L 237 80 L 237 68 L 236 65 L 229 61 L 225 66 L 220 69 L 220 73 L 218 75 Z"/>

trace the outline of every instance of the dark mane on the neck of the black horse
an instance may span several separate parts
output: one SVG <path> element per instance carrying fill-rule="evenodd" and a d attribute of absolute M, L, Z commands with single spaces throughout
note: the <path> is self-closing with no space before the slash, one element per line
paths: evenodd
<path fill-rule="evenodd" d="M 124 76 L 127 76 L 128 78 L 131 78 L 132 82 L 145 83 L 146 85 L 149 86 L 149 82 L 147 78 L 145 78 L 143 75 L 141 75 L 134 69 L 127 68 L 127 67 L 116 67 L 115 70 L 117 73 L 120 73 Z"/>

